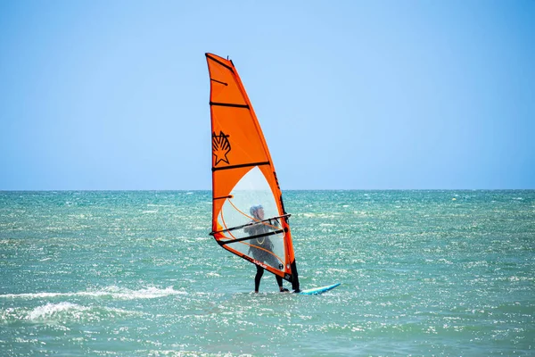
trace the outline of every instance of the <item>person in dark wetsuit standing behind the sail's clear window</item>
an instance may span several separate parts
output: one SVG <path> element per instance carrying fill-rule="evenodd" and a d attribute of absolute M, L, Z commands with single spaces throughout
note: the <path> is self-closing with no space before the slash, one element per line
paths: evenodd
<path fill-rule="evenodd" d="M 261 204 L 252 206 L 250 212 L 252 217 L 251 223 L 256 224 L 243 228 L 245 233 L 247 233 L 250 237 L 259 236 L 278 228 L 278 220 L 269 220 L 268 222 L 259 223 L 260 220 L 264 220 L 264 207 L 262 207 Z M 274 245 L 269 237 L 257 237 L 251 240 L 252 242 L 249 245 L 249 253 L 251 253 L 254 259 L 259 262 L 265 262 L 272 267 L 279 265 L 276 256 L 272 253 Z M 262 278 L 262 275 L 264 275 L 264 268 L 260 267 L 259 265 L 256 267 L 257 273 L 254 277 L 254 292 L 258 293 L 260 279 Z M 278 275 L 275 275 L 275 278 L 276 284 L 279 286 L 279 291 L 281 293 L 288 292 L 289 290 L 283 287 L 283 278 Z"/>

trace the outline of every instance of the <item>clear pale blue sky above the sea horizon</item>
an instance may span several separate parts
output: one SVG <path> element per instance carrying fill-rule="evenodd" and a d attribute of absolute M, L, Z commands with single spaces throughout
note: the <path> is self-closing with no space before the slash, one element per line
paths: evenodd
<path fill-rule="evenodd" d="M 535 188 L 535 1 L 0 1 L 0 190 L 210 189 L 204 53 L 284 189 Z"/>

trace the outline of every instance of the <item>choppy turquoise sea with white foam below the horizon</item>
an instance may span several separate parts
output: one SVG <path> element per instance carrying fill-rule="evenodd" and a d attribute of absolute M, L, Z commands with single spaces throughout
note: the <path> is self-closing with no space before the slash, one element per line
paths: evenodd
<path fill-rule="evenodd" d="M 0 192 L 0 355 L 535 355 L 535 190 L 284 205 L 301 287 L 341 286 L 254 294 L 210 191 Z"/>

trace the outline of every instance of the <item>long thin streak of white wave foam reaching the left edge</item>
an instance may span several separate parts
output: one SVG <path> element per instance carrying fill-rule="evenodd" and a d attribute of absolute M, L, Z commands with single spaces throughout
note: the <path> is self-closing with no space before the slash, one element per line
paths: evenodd
<path fill-rule="evenodd" d="M 132 290 L 119 286 L 108 286 L 103 290 L 95 291 L 80 291 L 76 293 L 24 293 L 24 294 L 4 294 L 0 295 L 0 298 L 4 299 L 42 299 L 42 298 L 54 298 L 54 297 L 111 297 L 113 299 L 120 300 L 136 300 L 136 299 L 154 299 L 158 297 L 164 297 L 169 295 L 186 295 L 187 293 L 182 290 L 175 290 L 172 286 L 161 289 L 155 286 L 144 287 L 139 290 Z"/>

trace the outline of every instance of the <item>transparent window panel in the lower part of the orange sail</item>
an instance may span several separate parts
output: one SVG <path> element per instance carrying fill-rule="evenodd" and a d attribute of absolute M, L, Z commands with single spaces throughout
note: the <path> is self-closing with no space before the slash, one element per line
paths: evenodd
<path fill-rule="evenodd" d="M 284 233 L 280 220 L 274 219 L 281 214 L 277 210 L 276 201 L 268 181 L 258 166 L 251 169 L 236 184 L 230 193 L 232 198 L 226 199 L 223 209 L 218 215 L 218 222 L 224 229 L 247 225 L 244 228 L 225 232 L 228 240 L 253 237 L 248 240 L 231 243 L 228 246 L 239 253 L 249 255 L 256 261 L 270 265 L 277 270 L 284 269 Z M 223 241 L 225 239 L 222 239 Z"/>

